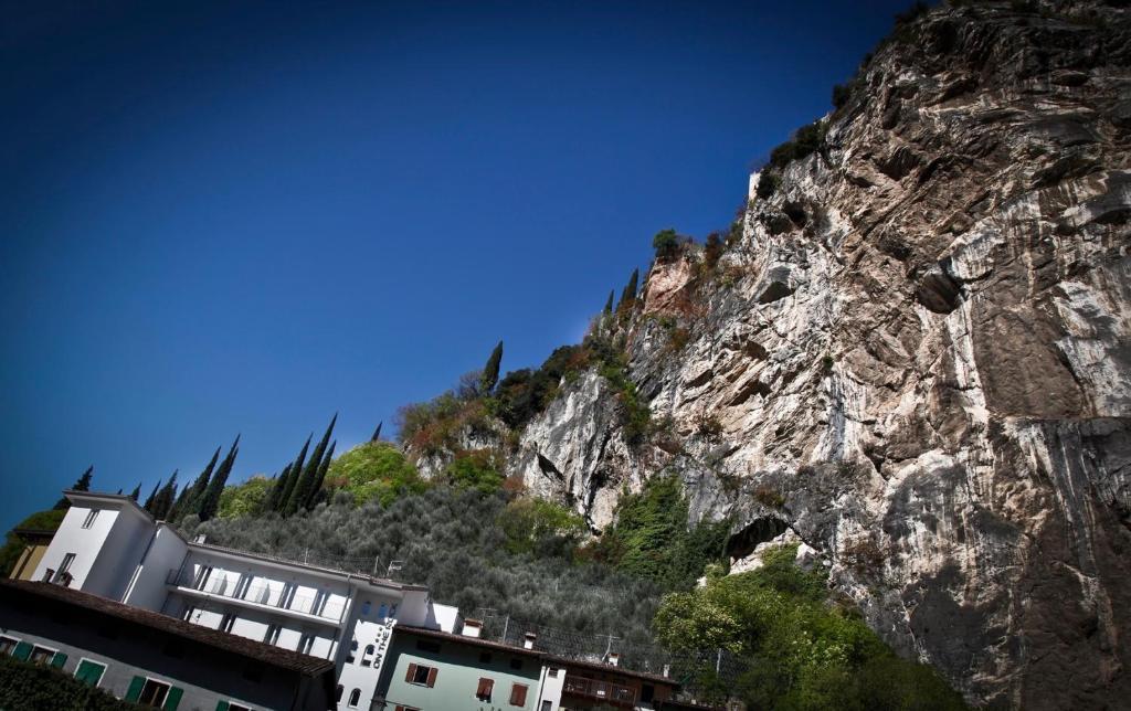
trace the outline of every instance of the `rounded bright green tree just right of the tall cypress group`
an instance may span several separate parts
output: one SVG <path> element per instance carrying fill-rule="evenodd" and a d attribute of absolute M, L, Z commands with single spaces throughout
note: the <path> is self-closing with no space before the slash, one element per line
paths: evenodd
<path fill-rule="evenodd" d="M 357 505 L 377 501 L 382 506 L 428 488 L 416 467 L 389 442 L 359 444 L 335 459 L 326 472 L 326 486 L 348 493 Z"/>

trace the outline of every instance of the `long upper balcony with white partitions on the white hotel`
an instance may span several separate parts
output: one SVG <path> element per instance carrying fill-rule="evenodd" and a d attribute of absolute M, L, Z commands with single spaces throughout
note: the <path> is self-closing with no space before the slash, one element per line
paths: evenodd
<path fill-rule="evenodd" d="M 342 624 L 346 612 L 345 604 L 329 600 L 328 596 L 290 593 L 284 597 L 283 586 L 276 584 L 274 589 L 267 583 L 241 587 L 232 584 L 226 575 L 196 580 L 190 571 L 171 570 L 165 583 L 191 597 L 222 598 L 251 609 L 282 613 L 295 619 L 320 622 L 333 626 Z"/>

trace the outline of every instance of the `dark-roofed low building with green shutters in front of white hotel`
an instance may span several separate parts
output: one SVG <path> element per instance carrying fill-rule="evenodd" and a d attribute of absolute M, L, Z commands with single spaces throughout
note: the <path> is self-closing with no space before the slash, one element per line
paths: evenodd
<path fill-rule="evenodd" d="M 334 664 L 58 584 L 0 581 L 0 651 L 169 711 L 323 711 Z"/>

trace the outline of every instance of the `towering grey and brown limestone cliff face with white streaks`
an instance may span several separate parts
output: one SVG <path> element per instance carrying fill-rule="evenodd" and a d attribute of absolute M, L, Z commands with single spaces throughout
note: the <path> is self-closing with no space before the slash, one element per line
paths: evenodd
<path fill-rule="evenodd" d="M 1016 6 L 1016 3 L 1015 3 Z M 511 474 L 595 528 L 676 471 L 739 564 L 795 536 L 972 701 L 1131 699 L 1131 31 L 1107 6 L 900 31 L 741 243 L 622 326 L 663 436 L 596 372 Z"/>

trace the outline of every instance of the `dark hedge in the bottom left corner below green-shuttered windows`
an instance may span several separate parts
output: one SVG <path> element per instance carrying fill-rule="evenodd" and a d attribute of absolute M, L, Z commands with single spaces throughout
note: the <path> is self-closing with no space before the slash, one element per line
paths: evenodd
<path fill-rule="evenodd" d="M 139 709 L 59 669 L 0 654 L 0 709 L 130 711 Z"/>

